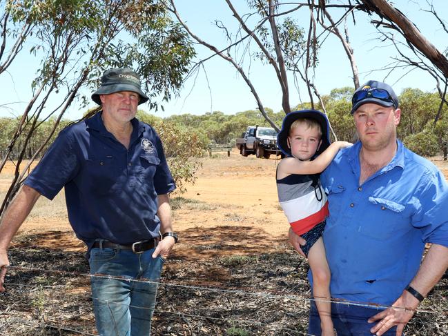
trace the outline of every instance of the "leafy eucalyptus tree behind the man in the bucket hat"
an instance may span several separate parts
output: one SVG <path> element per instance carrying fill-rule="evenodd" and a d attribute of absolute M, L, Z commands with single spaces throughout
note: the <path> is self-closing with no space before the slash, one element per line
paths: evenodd
<path fill-rule="evenodd" d="M 186 33 L 168 17 L 163 0 L 6 0 L 0 10 L 0 75 L 11 69 L 20 52 L 35 55 L 27 67 L 36 74 L 29 101 L 19 112 L 19 123 L 0 163 L 1 172 L 16 148 L 17 168 L 1 214 L 69 106 L 74 101 L 79 108 L 87 105 L 90 99 L 81 88 L 92 92 L 107 68 L 135 68 L 144 79 L 150 108 L 157 110 L 163 108 L 157 97 L 168 101 L 182 85 L 195 52 Z M 57 103 L 51 106 L 50 101 Z M 32 137 L 49 118 L 55 121 L 46 141 L 22 167 Z"/>

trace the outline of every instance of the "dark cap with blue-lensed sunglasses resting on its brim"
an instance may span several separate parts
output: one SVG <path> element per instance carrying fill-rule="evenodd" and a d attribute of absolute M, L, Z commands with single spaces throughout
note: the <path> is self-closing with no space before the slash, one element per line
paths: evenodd
<path fill-rule="evenodd" d="M 393 106 L 398 108 L 398 97 L 391 86 L 381 81 L 368 81 L 355 91 L 351 99 L 351 114 L 364 103 L 376 103 L 385 108 Z"/>

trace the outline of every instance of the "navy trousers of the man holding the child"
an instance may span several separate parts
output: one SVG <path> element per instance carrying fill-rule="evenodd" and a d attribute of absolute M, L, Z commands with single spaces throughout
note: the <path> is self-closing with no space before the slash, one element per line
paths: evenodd
<path fill-rule="evenodd" d="M 369 323 L 367 319 L 380 313 L 380 311 L 380 309 L 376 308 L 349 306 L 347 304 L 333 302 L 331 304 L 331 319 L 333 320 L 334 328 L 338 332 L 338 336 L 371 336 L 375 334 L 372 334 L 370 329 L 378 322 Z M 394 326 L 383 335 L 395 336 L 396 329 L 397 327 Z M 314 301 L 311 301 L 309 311 L 308 333 L 311 335 L 321 334 L 320 317 Z"/>

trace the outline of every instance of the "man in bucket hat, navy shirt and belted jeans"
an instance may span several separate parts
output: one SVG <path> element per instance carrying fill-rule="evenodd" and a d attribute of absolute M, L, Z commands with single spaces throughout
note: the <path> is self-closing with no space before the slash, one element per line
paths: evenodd
<path fill-rule="evenodd" d="M 138 75 L 104 72 L 92 99 L 101 111 L 59 133 L 3 216 L 0 266 L 39 196 L 53 199 L 64 187 L 68 219 L 88 247 L 99 334 L 149 335 L 157 284 L 126 279 L 159 279 L 177 241 L 168 199 L 175 183 L 159 136 L 135 118 L 148 100 Z"/>

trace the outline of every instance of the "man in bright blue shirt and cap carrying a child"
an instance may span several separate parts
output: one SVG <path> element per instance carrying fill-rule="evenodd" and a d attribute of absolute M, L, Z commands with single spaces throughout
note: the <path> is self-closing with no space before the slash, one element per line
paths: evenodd
<path fill-rule="evenodd" d="M 401 110 L 389 85 L 368 81 L 352 103 L 360 141 L 321 175 L 329 199 L 323 237 L 331 296 L 397 308 L 333 304 L 333 324 L 338 336 L 402 335 L 448 266 L 448 185 L 398 141 Z M 290 240 L 302 253 L 302 238 L 290 232 Z M 420 265 L 425 243 L 432 244 Z M 309 333 L 320 335 L 314 304 Z"/>

